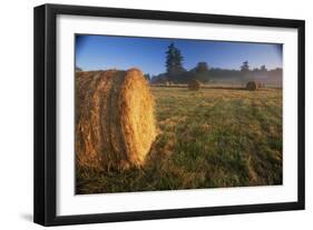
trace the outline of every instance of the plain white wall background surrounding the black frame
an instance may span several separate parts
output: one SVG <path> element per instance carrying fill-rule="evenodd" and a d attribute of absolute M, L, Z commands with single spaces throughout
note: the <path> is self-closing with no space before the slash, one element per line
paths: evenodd
<path fill-rule="evenodd" d="M 59 229 L 283 229 L 313 224 L 313 14 L 311 1 L 273 0 L 55 0 L 1 2 L 0 36 L 0 228 L 40 229 L 32 223 L 32 8 L 41 3 L 90 4 L 306 20 L 306 210 L 137 221 Z"/>

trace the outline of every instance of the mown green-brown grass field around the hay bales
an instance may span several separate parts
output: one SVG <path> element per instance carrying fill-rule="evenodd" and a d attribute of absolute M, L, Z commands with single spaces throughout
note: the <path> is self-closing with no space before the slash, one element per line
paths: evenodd
<path fill-rule="evenodd" d="M 282 90 L 151 91 L 159 134 L 145 167 L 77 169 L 77 193 L 282 183 Z"/>

